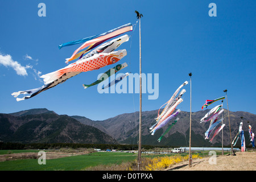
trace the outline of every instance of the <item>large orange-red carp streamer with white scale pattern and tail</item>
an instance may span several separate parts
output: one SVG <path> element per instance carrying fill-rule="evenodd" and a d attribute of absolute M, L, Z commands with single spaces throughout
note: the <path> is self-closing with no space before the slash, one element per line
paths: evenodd
<path fill-rule="evenodd" d="M 102 67 L 105 67 L 106 65 L 117 63 L 124 56 L 126 56 L 126 54 L 126 49 L 110 53 L 98 53 L 86 59 L 78 60 L 65 68 L 43 75 L 41 76 L 41 78 L 44 78 L 44 83 L 48 84 L 60 78 L 65 73 L 88 72 L 95 69 L 100 69 Z"/>

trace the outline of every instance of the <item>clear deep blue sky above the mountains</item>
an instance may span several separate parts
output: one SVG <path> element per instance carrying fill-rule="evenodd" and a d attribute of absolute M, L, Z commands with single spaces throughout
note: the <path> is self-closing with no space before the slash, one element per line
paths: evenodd
<path fill-rule="evenodd" d="M 38 16 L 41 2 L 45 17 Z M 216 3 L 217 16 L 208 15 L 210 3 Z M 143 94 L 143 111 L 159 109 L 192 72 L 192 111 L 201 110 L 205 100 L 225 96 L 227 89 L 230 111 L 256 114 L 255 7 L 253 0 L 1 1 L 0 113 L 47 108 L 101 120 L 138 111 L 138 93 L 100 94 L 97 86 L 82 87 L 113 65 L 81 73 L 28 100 L 11 96 L 44 85 L 39 76 L 65 67 L 65 58 L 80 46 L 59 49 L 59 44 L 135 24 L 138 10 L 143 14 L 142 72 L 159 74 L 159 97 L 148 100 L 150 94 Z M 119 47 L 127 50 L 119 61 L 128 64 L 122 73 L 139 73 L 139 24 L 127 34 L 129 42 Z M 11 63 L 5 65 L 4 59 Z M 189 111 L 190 83 L 184 89 L 178 109 Z"/>

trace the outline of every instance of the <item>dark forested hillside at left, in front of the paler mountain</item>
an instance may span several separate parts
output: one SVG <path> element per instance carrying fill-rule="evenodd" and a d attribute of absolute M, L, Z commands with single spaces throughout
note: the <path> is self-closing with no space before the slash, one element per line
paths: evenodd
<path fill-rule="evenodd" d="M 47 109 L 0 114 L 0 140 L 22 143 L 117 143 L 95 127 Z"/>

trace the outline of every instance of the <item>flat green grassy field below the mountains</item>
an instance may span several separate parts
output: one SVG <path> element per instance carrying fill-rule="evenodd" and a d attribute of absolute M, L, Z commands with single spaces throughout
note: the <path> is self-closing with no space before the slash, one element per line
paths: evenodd
<path fill-rule="evenodd" d="M 0 150 L 0 155 L 16 154 L 19 152 L 39 152 L 38 150 Z M 47 155 L 47 153 L 46 153 Z M 177 155 L 177 154 L 170 154 Z M 155 158 L 170 156 L 166 154 L 142 155 Z M 178 154 L 179 155 L 179 154 Z M 181 154 L 185 156 L 188 154 Z M 199 153 L 199 155 L 208 155 Z M 219 154 L 217 154 L 219 155 Z M 67 156 L 58 159 L 47 159 L 46 164 L 38 164 L 38 159 L 18 159 L 0 162 L 0 171 L 76 171 L 98 165 L 121 164 L 122 162 L 137 159 L 137 153 L 129 152 L 94 152 L 86 155 Z"/>

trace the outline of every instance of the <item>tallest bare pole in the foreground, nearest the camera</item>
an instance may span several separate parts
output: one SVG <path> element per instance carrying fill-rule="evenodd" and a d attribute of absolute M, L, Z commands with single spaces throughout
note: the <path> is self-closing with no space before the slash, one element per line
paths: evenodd
<path fill-rule="evenodd" d="M 143 16 L 135 10 L 139 19 L 139 147 L 138 147 L 138 171 L 141 171 L 141 119 L 142 119 L 142 78 L 141 78 L 141 17 Z"/>

